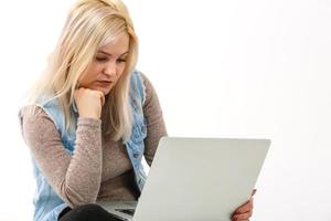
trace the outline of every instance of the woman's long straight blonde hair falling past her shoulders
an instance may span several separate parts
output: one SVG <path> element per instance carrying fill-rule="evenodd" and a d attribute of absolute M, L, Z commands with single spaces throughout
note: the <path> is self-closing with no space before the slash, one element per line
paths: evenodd
<path fill-rule="evenodd" d="M 36 103 L 40 97 L 57 98 L 66 130 L 75 128 L 71 105 L 78 78 L 92 64 L 98 49 L 122 33 L 129 35 L 129 54 L 124 73 L 106 97 L 102 120 L 104 137 L 129 140 L 132 114 L 128 92 L 130 73 L 137 63 L 138 40 L 128 10 L 120 0 L 79 0 L 71 9 L 31 102 Z"/>

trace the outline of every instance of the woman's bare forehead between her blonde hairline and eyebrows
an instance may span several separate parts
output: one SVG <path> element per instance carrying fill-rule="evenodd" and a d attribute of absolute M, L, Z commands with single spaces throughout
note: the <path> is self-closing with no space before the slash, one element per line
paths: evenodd
<path fill-rule="evenodd" d="M 122 33 L 113 39 L 111 42 L 98 49 L 109 54 L 122 54 L 129 50 L 130 39 L 127 33 Z"/>

